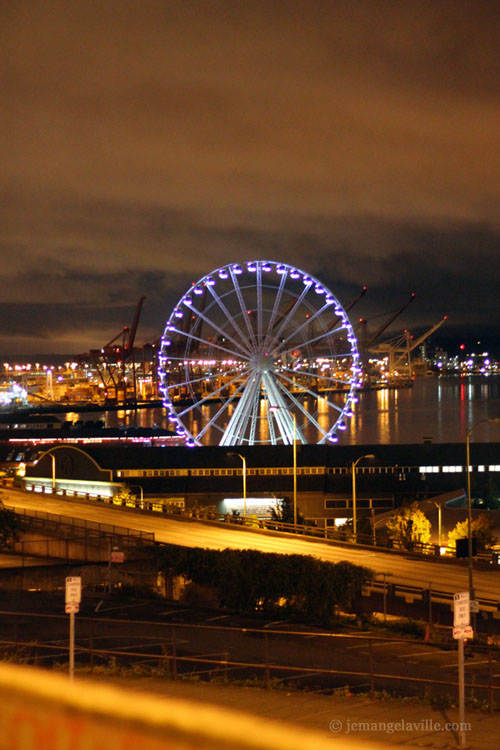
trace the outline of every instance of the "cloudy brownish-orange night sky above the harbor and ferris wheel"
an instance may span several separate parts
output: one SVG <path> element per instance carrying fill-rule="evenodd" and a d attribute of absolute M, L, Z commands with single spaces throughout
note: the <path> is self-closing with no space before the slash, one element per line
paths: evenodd
<path fill-rule="evenodd" d="M 157 339 L 298 265 L 378 327 L 500 341 L 495 0 L 2 0 L 0 355 Z M 460 333 L 458 333 L 460 331 Z"/>

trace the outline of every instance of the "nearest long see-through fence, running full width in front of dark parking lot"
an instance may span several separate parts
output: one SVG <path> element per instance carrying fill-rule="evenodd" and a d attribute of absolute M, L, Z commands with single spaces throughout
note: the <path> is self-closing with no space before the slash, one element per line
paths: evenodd
<path fill-rule="evenodd" d="M 15 652 L 29 663 L 66 660 L 68 618 L 64 615 L 0 612 L 0 623 L 0 649 L 11 658 Z M 44 632 L 49 637 L 41 640 Z M 173 679 L 258 680 L 267 689 L 284 683 L 316 692 L 384 690 L 441 698 L 448 690 L 450 700 L 458 689 L 454 642 L 80 615 L 76 632 L 77 664 L 91 668 L 112 664 Z M 415 656 L 409 646 L 419 649 L 416 666 L 409 666 L 408 656 Z M 469 666 L 474 667 L 466 681 L 469 697 L 493 711 L 500 690 L 500 649 L 474 645 L 469 658 Z"/>

